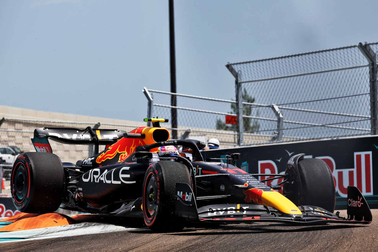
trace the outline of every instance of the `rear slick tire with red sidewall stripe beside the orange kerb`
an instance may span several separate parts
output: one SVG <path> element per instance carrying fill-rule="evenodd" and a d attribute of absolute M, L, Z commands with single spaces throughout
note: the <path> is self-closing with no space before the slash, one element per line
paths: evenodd
<path fill-rule="evenodd" d="M 11 194 L 24 213 L 50 213 L 59 208 L 65 191 L 62 162 L 52 153 L 25 152 L 14 162 Z"/>

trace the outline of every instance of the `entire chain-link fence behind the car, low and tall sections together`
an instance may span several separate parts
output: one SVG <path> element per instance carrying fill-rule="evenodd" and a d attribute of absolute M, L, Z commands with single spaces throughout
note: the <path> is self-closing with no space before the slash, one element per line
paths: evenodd
<path fill-rule="evenodd" d="M 225 144 L 378 134 L 377 50 L 378 43 L 360 43 L 228 64 L 235 101 L 144 92 L 153 115 L 170 115 L 170 96 L 176 95 L 177 129 L 202 131 L 207 139 L 229 134 L 220 141 Z M 226 124 L 229 117 L 237 124 Z"/>

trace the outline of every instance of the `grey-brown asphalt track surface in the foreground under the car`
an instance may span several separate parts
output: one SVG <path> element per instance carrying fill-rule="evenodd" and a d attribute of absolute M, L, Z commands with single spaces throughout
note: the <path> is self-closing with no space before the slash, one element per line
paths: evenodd
<path fill-rule="evenodd" d="M 341 210 L 341 216 L 347 216 Z M 99 219 L 132 229 L 0 243 L 0 251 L 378 251 L 378 209 L 368 225 L 290 226 L 270 222 L 153 233 L 140 222 Z"/>

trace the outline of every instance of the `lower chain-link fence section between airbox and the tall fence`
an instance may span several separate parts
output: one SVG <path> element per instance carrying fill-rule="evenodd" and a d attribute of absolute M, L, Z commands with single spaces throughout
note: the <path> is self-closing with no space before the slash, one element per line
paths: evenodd
<path fill-rule="evenodd" d="M 144 88 L 149 100 L 147 117 L 160 117 L 172 122 L 170 97 L 176 96 L 177 128 L 162 125 L 170 131 L 177 131 L 177 138 L 191 138 L 206 142 L 210 138 L 217 138 L 221 147 L 226 148 L 237 145 L 237 132 L 225 130 L 223 122 L 226 116 L 235 117 L 236 102 L 206 98 L 201 96 L 184 95 Z"/>

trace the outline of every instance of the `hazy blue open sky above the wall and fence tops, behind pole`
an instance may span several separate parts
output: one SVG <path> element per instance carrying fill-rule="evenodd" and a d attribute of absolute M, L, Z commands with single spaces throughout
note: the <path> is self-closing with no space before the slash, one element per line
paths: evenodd
<path fill-rule="evenodd" d="M 378 1 L 175 0 L 177 92 L 234 99 L 227 62 L 378 42 Z M 0 0 L 0 105 L 143 120 L 170 90 L 168 0 Z"/>

